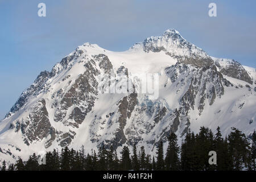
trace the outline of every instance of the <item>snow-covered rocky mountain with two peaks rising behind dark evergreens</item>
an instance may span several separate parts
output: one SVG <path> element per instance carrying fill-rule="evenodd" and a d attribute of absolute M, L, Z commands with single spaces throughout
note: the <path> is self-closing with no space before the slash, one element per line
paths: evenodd
<path fill-rule="evenodd" d="M 155 76 L 147 80 L 154 93 L 141 92 L 144 76 Z M 41 72 L 0 122 L 0 159 L 65 146 L 90 152 L 102 144 L 119 152 L 135 143 L 155 154 L 170 133 L 181 142 L 200 126 L 220 126 L 224 135 L 237 127 L 250 137 L 255 85 L 255 68 L 211 57 L 176 30 L 125 52 L 85 43 Z"/>

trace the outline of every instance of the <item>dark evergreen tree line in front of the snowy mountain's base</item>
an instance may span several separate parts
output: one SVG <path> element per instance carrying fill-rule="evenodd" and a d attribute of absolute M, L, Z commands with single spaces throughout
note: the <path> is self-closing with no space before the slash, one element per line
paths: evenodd
<path fill-rule="evenodd" d="M 217 164 L 210 165 L 209 151 L 216 151 Z M 39 164 L 39 156 L 33 154 L 26 162 L 19 158 L 15 164 L 7 168 L 6 162 L 2 162 L 2 171 L 105 171 L 105 170 L 160 170 L 160 171 L 229 171 L 229 170 L 250 170 L 255 171 L 256 156 L 256 133 L 254 131 L 250 139 L 236 128 L 228 137 L 222 138 L 220 127 L 217 127 L 216 134 L 212 130 L 201 127 L 198 134 L 189 130 L 185 135 L 181 146 L 177 144 L 177 136 L 171 133 L 168 137 L 168 147 L 164 155 L 163 142 L 157 144 L 156 156 L 145 153 L 142 146 L 138 151 L 133 146 L 130 152 L 129 147 L 123 146 L 121 158 L 118 158 L 117 151 L 110 147 L 107 150 L 104 146 L 98 148 L 96 154 L 85 154 L 84 146 L 80 150 L 69 150 L 62 148 L 46 153 L 46 164 Z"/>

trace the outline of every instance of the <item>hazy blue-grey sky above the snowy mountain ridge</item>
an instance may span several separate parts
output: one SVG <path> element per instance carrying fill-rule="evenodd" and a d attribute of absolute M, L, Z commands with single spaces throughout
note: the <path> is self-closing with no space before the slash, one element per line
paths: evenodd
<path fill-rule="evenodd" d="M 38 4 L 47 16 L 39 17 Z M 217 5 L 217 17 L 208 5 Z M 0 0 L 0 118 L 41 71 L 77 46 L 125 51 L 175 28 L 211 56 L 256 68 L 256 1 Z"/>

